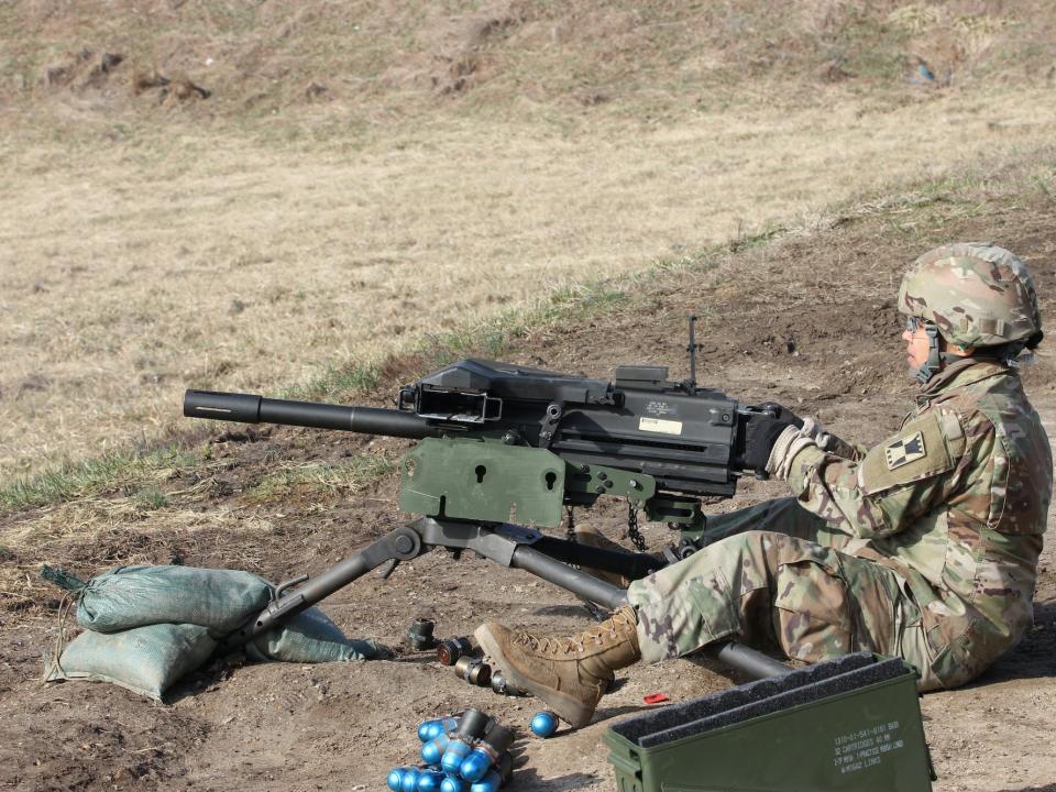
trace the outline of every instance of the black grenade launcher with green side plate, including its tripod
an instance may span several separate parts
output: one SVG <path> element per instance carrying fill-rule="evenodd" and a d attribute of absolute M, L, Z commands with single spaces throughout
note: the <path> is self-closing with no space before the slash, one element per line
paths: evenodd
<path fill-rule="evenodd" d="M 750 424 L 771 414 L 697 387 L 695 365 L 691 371 L 689 381 L 671 382 L 667 367 L 624 365 L 609 383 L 461 360 L 403 387 L 396 409 L 187 391 L 188 417 L 419 440 L 400 462 L 399 507 L 422 517 L 296 590 L 307 575 L 284 584 L 285 596 L 229 644 L 233 648 L 382 563 L 389 564 L 387 575 L 431 547 L 473 550 L 590 603 L 617 607 L 626 601 L 624 590 L 574 565 L 638 579 L 664 561 L 587 548 L 536 529 L 559 527 L 565 507 L 617 496 L 630 505 L 632 537 L 640 509 L 682 529 L 675 557 L 695 549 L 704 531 L 700 498 L 734 494 L 745 473 Z M 759 675 L 788 671 L 758 659 Z"/>

